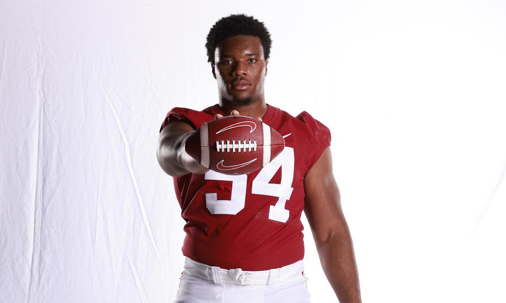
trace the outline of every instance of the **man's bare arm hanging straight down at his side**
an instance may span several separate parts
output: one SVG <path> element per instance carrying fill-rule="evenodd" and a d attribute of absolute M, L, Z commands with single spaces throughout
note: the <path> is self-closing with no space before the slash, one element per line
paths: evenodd
<path fill-rule="evenodd" d="M 307 172 L 304 190 L 304 213 L 328 282 L 341 303 L 362 302 L 353 243 L 341 209 L 329 147 Z"/>

